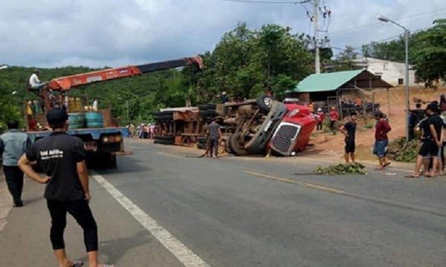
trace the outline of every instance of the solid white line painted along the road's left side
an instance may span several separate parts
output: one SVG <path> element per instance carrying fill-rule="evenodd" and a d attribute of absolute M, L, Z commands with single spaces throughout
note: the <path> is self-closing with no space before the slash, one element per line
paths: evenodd
<path fill-rule="evenodd" d="M 172 236 L 169 231 L 164 229 L 159 223 L 156 223 L 152 217 L 146 214 L 140 207 L 135 205 L 130 199 L 115 188 L 104 177 L 95 172 L 91 172 L 92 177 L 105 188 L 132 216 L 141 223 L 141 225 L 152 233 L 165 248 L 170 251 L 184 266 L 187 267 L 205 267 L 209 266 L 198 255 L 187 248 L 180 240 Z"/>

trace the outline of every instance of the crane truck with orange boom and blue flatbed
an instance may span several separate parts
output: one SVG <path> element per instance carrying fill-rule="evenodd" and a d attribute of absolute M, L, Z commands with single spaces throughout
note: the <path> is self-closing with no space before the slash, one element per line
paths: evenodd
<path fill-rule="evenodd" d="M 57 107 L 68 108 L 68 92 L 73 88 L 103 81 L 143 75 L 154 71 L 163 71 L 170 68 L 192 65 L 197 66 L 198 69 L 202 69 L 202 58 L 196 56 L 193 58 L 181 58 L 178 60 L 168 60 L 138 66 L 123 66 L 51 79 L 51 81 L 45 83 L 42 90 L 38 90 L 37 92 L 34 91 L 39 98 L 38 107 L 40 108 L 37 108 L 36 110 L 40 110 L 40 114 L 36 114 L 36 112 L 25 112 L 25 114 L 27 114 L 25 116 L 25 121 L 27 122 L 28 136 L 32 142 L 49 136 L 51 129 L 38 129 L 36 124 L 47 125 L 45 114 L 48 110 Z M 28 103 L 30 103 L 30 101 Z M 29 107 L 28 110 L 30 110 Z M 82 106 L 82 111 L 78 113 L 80 118 L 82 118 L 81 114 L 83 114 L 84 111 Z M 68 112 L 73 111 L 68 109 Z M 94 112 L 87 112 L 86 114 L 88 113 L 94 115 Z M 97 118 L 104 119 L 103 116 L 97 116 Z M 100 126 L 97 127 L 97 125 Z M 115 153 L 124 150 L 123 138 L 127 137 L 129 134 L 126 127 L 117 127 L 116 125 L 111 127 L 111 125 L 104 124 L 103 122 L 96 124 L 96 127 L 89 127 L 89 123 L 86 123 L 86 127 L 69 129 L 68 133 L 71 136 L 77 136 L 84 141 L 84 149 L 87 153 L 87 163 L 88 161 L 102 162 L 108 168 L 116 168 L 117 162 Z"/>

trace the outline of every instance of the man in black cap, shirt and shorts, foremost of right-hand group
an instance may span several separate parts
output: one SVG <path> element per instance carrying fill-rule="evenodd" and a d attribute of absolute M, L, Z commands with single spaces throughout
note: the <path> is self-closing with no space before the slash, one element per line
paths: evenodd
<path fill-rule="evenodd" d="M 443 129 L 443 119 L 438 116 L 439 112 L 440 109 L 435 103 L 427 105 L 426 114 L 428 118 L 423 123 L 423 144 L 416 157 L 414 173 L 412 175 L 406 175 L 407 178 L 419 177 L 423 159 L 427 156 L 430 156 L 432 159 L 432 168 L 430 174 L 425 170 L 425 177 L 435 178 L 435 173 L 438 169 L 438 151 L 442 146 L 441 132 Z"/>

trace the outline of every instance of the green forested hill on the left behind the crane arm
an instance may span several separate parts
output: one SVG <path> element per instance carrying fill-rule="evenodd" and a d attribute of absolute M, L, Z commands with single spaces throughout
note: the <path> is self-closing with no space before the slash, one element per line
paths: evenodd
<path fill-rule="evenodd" d="M 0 71 L 2 123 L 10 118 L 21 119 L 23 101 L 36 98 L 35 94 L 27 92 L 27 81 L 34 69 L 10 66 Z M 38 69 L 41 81 L 97 70 L 84 66 Z M 184 106 L 188 86 L 181 71 L 170 70 L 73 88 L 69 95 L 86 96 L 91 101 L 97 98 L 99 107 L 112 107 L 114 116 L 122 120 L 127 120 L 128 104 L 130 120 L 148 121 L 150 114 L 160 107 Z M 16 93 L 12 94 L 14 91 Z"/>

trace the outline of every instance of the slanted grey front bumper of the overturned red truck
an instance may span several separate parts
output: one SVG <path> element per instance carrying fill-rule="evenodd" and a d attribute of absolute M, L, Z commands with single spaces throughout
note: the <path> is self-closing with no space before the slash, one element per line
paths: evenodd
<path fill-rule="evenodd" d="M 265 151 L 268 142 L 274 133 L 277 125 L 280 123 L 283 116 L 285 116 L 287 109 L 283 103 L 278 101 L 272 102 L 272 107 L 268 116 L 260 127 L 260 129 L 255 133 L 255 136 L 246 143 L 245 149 L 250 154 L 261 154 Z"/>

